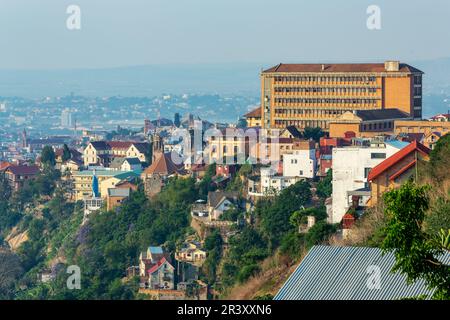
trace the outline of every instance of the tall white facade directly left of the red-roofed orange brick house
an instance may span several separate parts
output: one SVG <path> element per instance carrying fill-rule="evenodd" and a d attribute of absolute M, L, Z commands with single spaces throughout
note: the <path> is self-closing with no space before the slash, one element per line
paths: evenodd
<path fill-rule="evenodd" d="M 380 143 L 333 149 L 333 203 L 330 223 L 339 223 L 350 208 L 348 192 L 368 188 L 370 169 L 405 147 L 407 143 Z M 365 199 L 368 200 L 368 199 Z"/>

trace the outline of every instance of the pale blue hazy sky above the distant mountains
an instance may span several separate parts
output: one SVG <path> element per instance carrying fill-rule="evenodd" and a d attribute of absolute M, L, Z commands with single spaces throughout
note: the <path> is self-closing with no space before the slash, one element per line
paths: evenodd
<path fill-rule="evenodd" d="M 66 28 L 71 4 L 81 30 Z M 0 69 L 407 62 L 450 56 L 449 16 L 448 0 L 0 0 Z"/>

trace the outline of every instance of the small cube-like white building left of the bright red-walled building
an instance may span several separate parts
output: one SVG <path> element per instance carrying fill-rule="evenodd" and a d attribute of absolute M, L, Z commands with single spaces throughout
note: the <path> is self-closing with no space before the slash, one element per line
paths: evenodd
<path fill-rule="evenodd" d="M 283 176 L 313 179 L 316 174 L 317 159 L 315 149 L 295 150 L 283 155 Z"/>

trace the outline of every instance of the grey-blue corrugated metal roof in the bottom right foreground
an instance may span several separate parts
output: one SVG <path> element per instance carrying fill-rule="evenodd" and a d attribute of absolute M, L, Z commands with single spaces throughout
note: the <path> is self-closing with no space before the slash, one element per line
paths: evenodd
<path fill-rule="evenodd" d="M 450 254 L 442 261 L 450 264 Z M 274 300 L 397 300 L 430 295 L 423 280 L 411 285 L 392 273 L 395 257 L 379 248 L 314 246 Z M 379 268 L 379 288 L 371 287 Z"/>

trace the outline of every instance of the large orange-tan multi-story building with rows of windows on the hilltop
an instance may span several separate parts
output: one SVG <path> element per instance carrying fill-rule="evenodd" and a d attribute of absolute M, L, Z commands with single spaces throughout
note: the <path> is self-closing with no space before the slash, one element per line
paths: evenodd
<path fill-rule="evenodd" d="M 423 72 L 398 61 L 279 64 L 261 73 L 261 125 L 321 127 L 347 111 L 398 109 L 422 118 Z"/>

